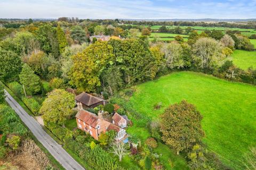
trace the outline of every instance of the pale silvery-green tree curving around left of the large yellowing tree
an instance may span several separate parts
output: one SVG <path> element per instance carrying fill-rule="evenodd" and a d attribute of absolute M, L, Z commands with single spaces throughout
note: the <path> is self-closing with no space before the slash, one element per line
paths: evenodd
<path fill-rule="evenodd" d="M 88 46 L 88 44 L 84 43 L 82 45 L 76 44 L 70 47 L 66 47 L 64 52 L 61 55 L 60 63 L 61 63 L 61 72 L 62 77 L 68 79 L 68 75 L 70 73 L 70 69 L 73 65 L 73 61 L 71 56 L 76 55 L 77 53 L 83 52 L 83 50 Z"/>

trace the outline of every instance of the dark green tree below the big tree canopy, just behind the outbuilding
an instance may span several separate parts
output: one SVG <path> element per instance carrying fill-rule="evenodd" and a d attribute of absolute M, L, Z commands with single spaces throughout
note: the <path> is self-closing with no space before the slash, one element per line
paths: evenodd
<path fill-rule="evenodd" d="M 123 74 L 117 66 L 110 66 L 108 69 L 103 71 L 101 75 L 101 86 L 103 86 L 103 90 L 107 91 L 111 96 L 113 96 L 124 86 L 122 76 Z"/>

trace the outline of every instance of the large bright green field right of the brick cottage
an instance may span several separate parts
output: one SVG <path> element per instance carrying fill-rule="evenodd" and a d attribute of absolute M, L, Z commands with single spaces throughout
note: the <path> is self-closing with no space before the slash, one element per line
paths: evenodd
<path fill-rule="evenodd" d="M 195 72 L 174 72 L 158 80 L 142 83 L 130 104 L 141 114 L 157 120 L 164 108 L 186 99 L 203 115 L 204 143 L 225 164 L 233 169 L 243 169 L 241 161 L 249 147 L 256 143 L 256 87 L 229 82 L 210 75 Z M 162 102 L 159 111 L 154 105 Z M 127 130 L 146 139 L 149 132 L 134 125 Z M 163 147 L 162 145 L 161 147 Z M 170 150 L 162 149 L 164 157 Z M 170 168 L 171 169 L 171 168 Z M 182 169 L 175 168 L 175 169 Z"/>

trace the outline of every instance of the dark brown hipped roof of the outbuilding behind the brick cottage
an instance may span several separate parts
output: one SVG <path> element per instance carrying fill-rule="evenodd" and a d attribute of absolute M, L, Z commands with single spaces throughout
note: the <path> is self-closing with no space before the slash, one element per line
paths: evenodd
<path fill-rule="evenodd" d="M 100 97 L 96 97 L 96 96 L 87 94 L 86 92 L 82 92 L 82 94 L 77 95 L 76 100 L 86 106 L 91 106 L 91 105 L 99 103 L 100 101 L 105 101 L 104 99 L 102 99 Z"/>

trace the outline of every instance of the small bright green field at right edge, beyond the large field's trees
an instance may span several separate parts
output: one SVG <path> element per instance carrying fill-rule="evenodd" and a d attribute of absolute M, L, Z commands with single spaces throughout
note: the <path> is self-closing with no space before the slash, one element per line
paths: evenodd
<path fill-rule="evenodd" d="M 234 64 L 241 69 L 247 70 L 250 66 L 256 69 L 256 51 L 235 50 L 231 57 Z"/>

